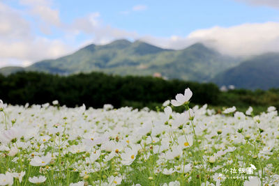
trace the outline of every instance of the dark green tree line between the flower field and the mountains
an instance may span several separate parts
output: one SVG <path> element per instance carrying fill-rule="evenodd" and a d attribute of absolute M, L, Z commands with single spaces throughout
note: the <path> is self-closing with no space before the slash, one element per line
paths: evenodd
<path fill-rule="evenodd" d="M 146 107 L 174 99 L 189 87 L 193 91 L 192 104 L 216 106 L 279 107 L 279 89 L 249 91 L 244 89 L 221 92 L 212 83 L 164 80 L 156 77 L 105 75 L 102 72 L 59 76 L 43 72 L 17 72 L 0 75 L 0 99 L 9 104 L 44 104 L 59 100 L 59 104 L 100 108 Z"/>

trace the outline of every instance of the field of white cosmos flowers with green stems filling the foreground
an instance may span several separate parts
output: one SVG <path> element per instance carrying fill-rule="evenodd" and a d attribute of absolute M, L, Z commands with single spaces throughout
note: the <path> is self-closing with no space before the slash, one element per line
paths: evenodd
<path fill-rule="evenodd" d="M 276 108 L 216 114 L 191 97 L 161 111 L 0 102 L 0 185 L 279 185 Z"/>

